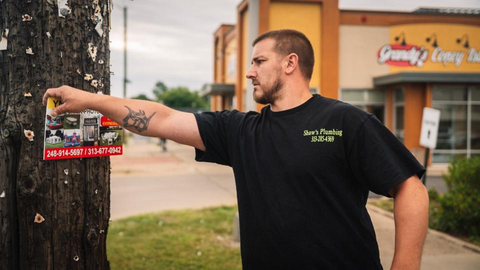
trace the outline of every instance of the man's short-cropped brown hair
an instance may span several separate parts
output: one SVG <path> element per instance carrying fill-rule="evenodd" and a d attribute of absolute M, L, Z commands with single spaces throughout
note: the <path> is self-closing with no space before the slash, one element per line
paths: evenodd
<path fill-rule="evenodd" d="M 260 42 L 263 39 L 272 38 L 275 41 L 273 50 L 280 56 L 285 56 L 290 53 L 298 55 L 298 66 L 300 71 L 306 79 L 311 79 L 313 73 L 313 64 L 315 59 L 313 57 L 313 47 L 310 40 L 300 31 L 293 29 L 281 29 L 264 32 L 257 36 L 253 43 Z"/>

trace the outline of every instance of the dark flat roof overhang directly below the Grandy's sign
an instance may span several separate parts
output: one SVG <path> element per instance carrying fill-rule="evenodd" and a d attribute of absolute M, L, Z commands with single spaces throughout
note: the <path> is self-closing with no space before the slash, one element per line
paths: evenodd
<path fill-rule="evenodd" d="M 480 83 L 478 72 L 398 72 L 373 78 L 373 85 L 405 82 Z"/>

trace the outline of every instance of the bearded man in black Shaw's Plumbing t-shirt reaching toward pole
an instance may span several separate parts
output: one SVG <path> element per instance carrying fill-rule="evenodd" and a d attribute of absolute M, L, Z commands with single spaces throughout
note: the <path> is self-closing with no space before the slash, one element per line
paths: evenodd
<path fill-rule="evenodd" d="M 246 73 L 257 112 L 191 114 L 143 100 L 48 89 L 53 114 L 95 109 L 145 135 L 195 147 L 235 175 L 247 269 L 381 269 L 368 190 L 394 197 L 392 269 L 418 269 L 428 219 L 424 169 L 373 115 L 311 95 L 313 49 L 295 30 L 253 42 Z M 323 78 L 328 79 L 328 78 Z"/>

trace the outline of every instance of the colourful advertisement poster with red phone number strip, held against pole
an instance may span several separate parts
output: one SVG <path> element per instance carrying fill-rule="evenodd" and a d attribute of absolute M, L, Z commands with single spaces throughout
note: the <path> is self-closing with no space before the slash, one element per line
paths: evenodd
<path fill-rule="evenodd" d="M 48 98 L 43 159 L 122 154 L 122 127 L 94 110 L 52 116 L 60 100 Z"/>

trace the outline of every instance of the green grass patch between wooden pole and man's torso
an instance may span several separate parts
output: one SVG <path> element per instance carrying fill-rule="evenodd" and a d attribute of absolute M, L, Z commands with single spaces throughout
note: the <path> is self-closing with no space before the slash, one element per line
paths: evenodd
<path fill-rule="evenodd" d="M 175 210 L 110 222 L 111 269 L 241 269 L 236 206 Z"/>

